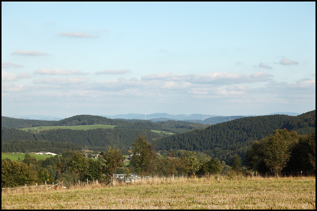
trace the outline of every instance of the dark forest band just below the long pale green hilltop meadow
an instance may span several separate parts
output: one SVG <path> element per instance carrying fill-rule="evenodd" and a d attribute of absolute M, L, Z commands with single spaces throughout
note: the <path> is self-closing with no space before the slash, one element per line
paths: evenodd
<path fill-rule="evenodd" d="M 131 150 L 132 142 L 140 134 L 142 129 L 90 129 L 90 130 L 71 130 L 71 129 L 50 129 L 44 133 L 30 133 L 16 128 L 2 128 L 1 142 L 6 143 L 10 140 L 31 140 L 31 141 L 52 141 L 63 142 L 65 144 L 75 144 L 81 147 L 88 147 L 89 150 L 107 151 L 109 146 L 116 146 L 121 151 Z M 157 139 L 158 133 L 151 130 L 146 131 L 150 140 Z M 15 152 L 9 148 L 2 149 L 2 152 Z M 25 150 L 25 149 L 24 149 Z M 42 151 L 42 150 L 41 150 Z M 65 150 L 66 151 L 66 150 Z"/>

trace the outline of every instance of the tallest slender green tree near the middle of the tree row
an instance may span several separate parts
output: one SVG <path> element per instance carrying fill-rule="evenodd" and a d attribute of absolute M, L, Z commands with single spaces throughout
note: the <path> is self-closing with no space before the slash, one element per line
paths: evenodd
<path fill-rule="evenodd" d="M 130 163 L 138 174 L 142 176 L 149 174 L 152 171 L 154 151 L 147 140 L 147 136 L 145 134 L 140 135 L 134 140 L 132 146 L 133 156 Z"/>

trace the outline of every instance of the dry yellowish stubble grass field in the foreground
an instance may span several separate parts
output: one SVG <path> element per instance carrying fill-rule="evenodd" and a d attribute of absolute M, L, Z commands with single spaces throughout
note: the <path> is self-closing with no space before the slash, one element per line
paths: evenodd
<path fill-rule="evenodd" d="M 2 209 L 315 209 L 315 177 L 154 178 L 2 191 Z"/>

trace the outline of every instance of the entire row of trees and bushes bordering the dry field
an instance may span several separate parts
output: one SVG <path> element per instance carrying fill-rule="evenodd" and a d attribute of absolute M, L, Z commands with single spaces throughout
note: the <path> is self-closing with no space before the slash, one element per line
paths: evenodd
<path fill-rule="evenodd" d="M 139 135 L 132 143 L 132 158 L 124 173 L 140 175 L 193 176 L 206 173 L 225 172 L 229 176 L 237 173 L 258 171 L 271 172 L 276 177 L 283 171 L 299 172 L 316 171 L 316 133 L 310 131 L 298 135 L 294 130 L 276 129 L 273 134 L 254 141 L 246 152 L 244 160 L 247 169 L 242 167 L 242 159 L 235 154 L 230 166 L 217 159 L 198 160 L 196 152 L 188 151 L 185 156 L 174 156 L 175 150 L 170 149 L 169 156 L 159 155 L 148 141 L 146 133 Z M 116 147 L 109 147 L 101 152 L 98 160 L 86 158 L 81 151 L 64 152 L 62 156 L 54 156 L 45 160 L 36 160 L 29 154 L 23 162 L 10 159 L 2 160 L 2 187 L 14 187 L 35 182 L 94 180 L 107 178 L 114 173 L 123 173 L 124 157 Z M 118 172 L 120 171 L 121 172 Z M 103 176 L 105 175 L 105 177 Z"/>

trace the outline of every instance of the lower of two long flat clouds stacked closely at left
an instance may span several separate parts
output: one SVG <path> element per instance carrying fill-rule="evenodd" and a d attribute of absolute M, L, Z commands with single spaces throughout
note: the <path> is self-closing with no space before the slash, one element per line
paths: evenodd
<path fill-rule="evenodd" d="M 33 81 L 34 84 L 54 84 L 54 85 L 70 85 L 70 84 L 82 84 L 90 81 L 90 78 L 86 77 L 58 77 L 58 78 L 39 78 Z"/>

